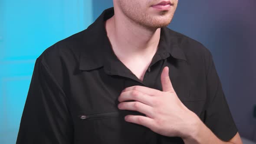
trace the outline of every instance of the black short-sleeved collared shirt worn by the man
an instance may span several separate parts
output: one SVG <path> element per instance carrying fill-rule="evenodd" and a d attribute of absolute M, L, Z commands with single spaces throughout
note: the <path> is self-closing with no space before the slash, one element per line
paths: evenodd
<path fill-rule="evenodd" d="M 165 66 L 177 96 L 224 141 L 237 132 L 212 55 L 197 41 L 161 28 L 158 50 L 143 81 L 116 56 L 108 41 L 105 10 L 87 29 L 46 49 L 37 59 L 17 144 L 183 144 L 142 125 L 129 123 L 119 110 L 124 88 L 161 90 Z M 189 121 L 189 119 L 187 120 Z"/>

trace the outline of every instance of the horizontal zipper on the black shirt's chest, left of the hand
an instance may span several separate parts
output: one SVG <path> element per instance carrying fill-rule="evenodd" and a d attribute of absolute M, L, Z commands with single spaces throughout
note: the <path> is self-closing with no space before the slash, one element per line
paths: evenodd
<path fill-rule="evenodd" d="M 119 112 L 105 112 L 99 114 L 90 114 L 90 115 L 79 115 L 81 120 L 89 120 L 89 119 L 101 119 L 101 118 L 111 118 L 119 115 Z"/>

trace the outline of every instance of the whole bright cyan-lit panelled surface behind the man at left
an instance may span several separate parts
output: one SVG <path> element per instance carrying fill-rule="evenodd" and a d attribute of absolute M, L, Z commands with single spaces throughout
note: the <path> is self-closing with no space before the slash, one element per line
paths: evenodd
<path fill-rule="evenodd" d="M 92 17 L 92 0 L 0 0 L 0 144 L 16 141 L 36 58 Z"/>

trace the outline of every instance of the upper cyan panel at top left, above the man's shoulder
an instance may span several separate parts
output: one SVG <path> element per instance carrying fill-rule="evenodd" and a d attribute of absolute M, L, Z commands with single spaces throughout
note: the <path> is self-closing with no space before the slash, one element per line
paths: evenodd
<path fill-rule="evenodd" d="M 3 0 L 2 39 L 8 49 L 1 59 L 35 59 L 46 47 L 85 29 L 92 22 L 92 12 L 87 12 L 92 4 L 88 2 Z"/>

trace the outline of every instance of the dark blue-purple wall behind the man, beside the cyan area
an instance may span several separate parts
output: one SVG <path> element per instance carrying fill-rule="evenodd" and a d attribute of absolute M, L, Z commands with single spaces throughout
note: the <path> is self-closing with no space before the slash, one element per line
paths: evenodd
<path fill-rule="evenodd" d="M 108 7 L 93 1 L 94 20 Z M 210 49 L 240 135 L 256 141 L 255 0 L 180 0 L 169 27 Z"/>

